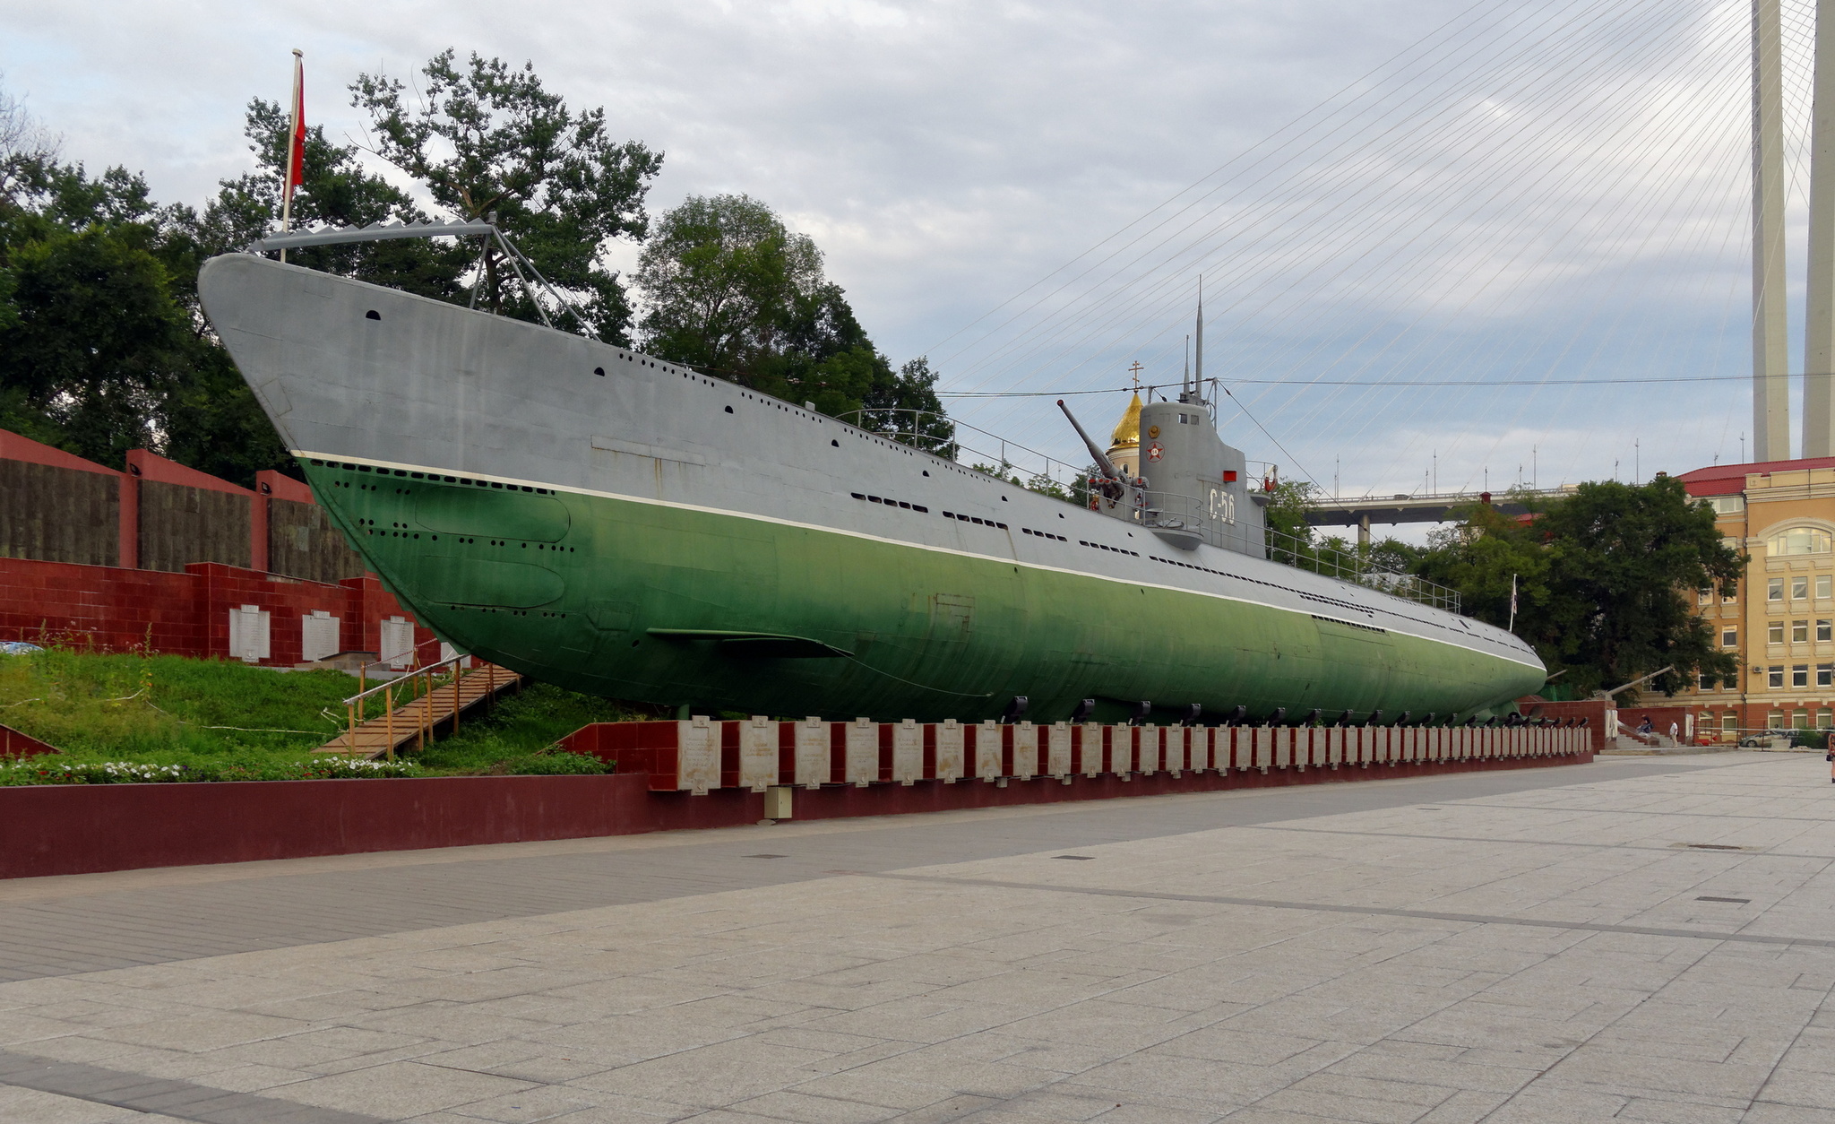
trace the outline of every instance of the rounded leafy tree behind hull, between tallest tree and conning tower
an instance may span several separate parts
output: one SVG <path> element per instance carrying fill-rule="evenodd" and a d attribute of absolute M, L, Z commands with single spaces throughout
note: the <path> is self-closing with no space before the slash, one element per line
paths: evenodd
<path fill-rule="evenodd" d="M 892 369 L 822 272 L 822 252 L 747 195 L 690 197 L 637 263 L 642 345 L 866 430 L 952 454 L 929 358 Z"/>

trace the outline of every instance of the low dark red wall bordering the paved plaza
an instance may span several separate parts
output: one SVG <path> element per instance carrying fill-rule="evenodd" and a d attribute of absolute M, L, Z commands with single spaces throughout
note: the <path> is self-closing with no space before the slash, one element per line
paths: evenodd
<path fill-rule="evenodd" d="M 1141 797 L 1228 788 L 1395 781 L 1440 773 L 1554 768 L 1591 760 L 1523 757 L 1398 764 L 1380 770 L 1231 770 L 1171 777 L 962 781 L 796 790 L 796 819 L 943 812 Z M 620 762 L 622 766 L 624 762 Z M 0 788 L 0 878 L 141 867 L 240 863 L 528 839 L 629 836 L 738 826 L 763 817 L 765 797 L 651 792 L 644 773 L 606 777 L 428 777 L 395 781 L 253 781 L 220 784 L 64 784 Z"/>

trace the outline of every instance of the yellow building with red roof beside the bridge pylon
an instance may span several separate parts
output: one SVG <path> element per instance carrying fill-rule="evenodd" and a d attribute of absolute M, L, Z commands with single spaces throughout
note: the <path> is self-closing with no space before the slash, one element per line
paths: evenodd
<path fill-rule="evenodd" d="M 1697 593 L 1740 674 L 1703 678 L 1677 703 L 1696 709 L 1699 735 L 1729 742 L 1835 725 L 1835 457 L 1716 465 L 1681 481 L 1714 505 L 1727 544 L 1751 562 L 1732 597 Z"/>

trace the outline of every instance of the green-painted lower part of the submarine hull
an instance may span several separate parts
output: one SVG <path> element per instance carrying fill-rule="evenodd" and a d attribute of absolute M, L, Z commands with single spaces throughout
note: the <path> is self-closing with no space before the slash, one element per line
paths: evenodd
<path fill-rule="evenodd" d="M 1319 707 L 1486 714 L 1543 670 L 1393 630 L 721 511 L 303 461 L 404 604 L 549 683 L 697 713 L 925 722 Z"/>

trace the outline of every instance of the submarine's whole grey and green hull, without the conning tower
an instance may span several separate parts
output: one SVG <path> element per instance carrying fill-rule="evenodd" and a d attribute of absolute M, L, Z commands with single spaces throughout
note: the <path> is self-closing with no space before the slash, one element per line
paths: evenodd
<path fill-rule="evenodd" d="M 253 255 L 211 323 L 323 503 L 455 646 L 758 714 L 1485 714 L 1514 635 L 1026 492 L 582 336 Z"/>

